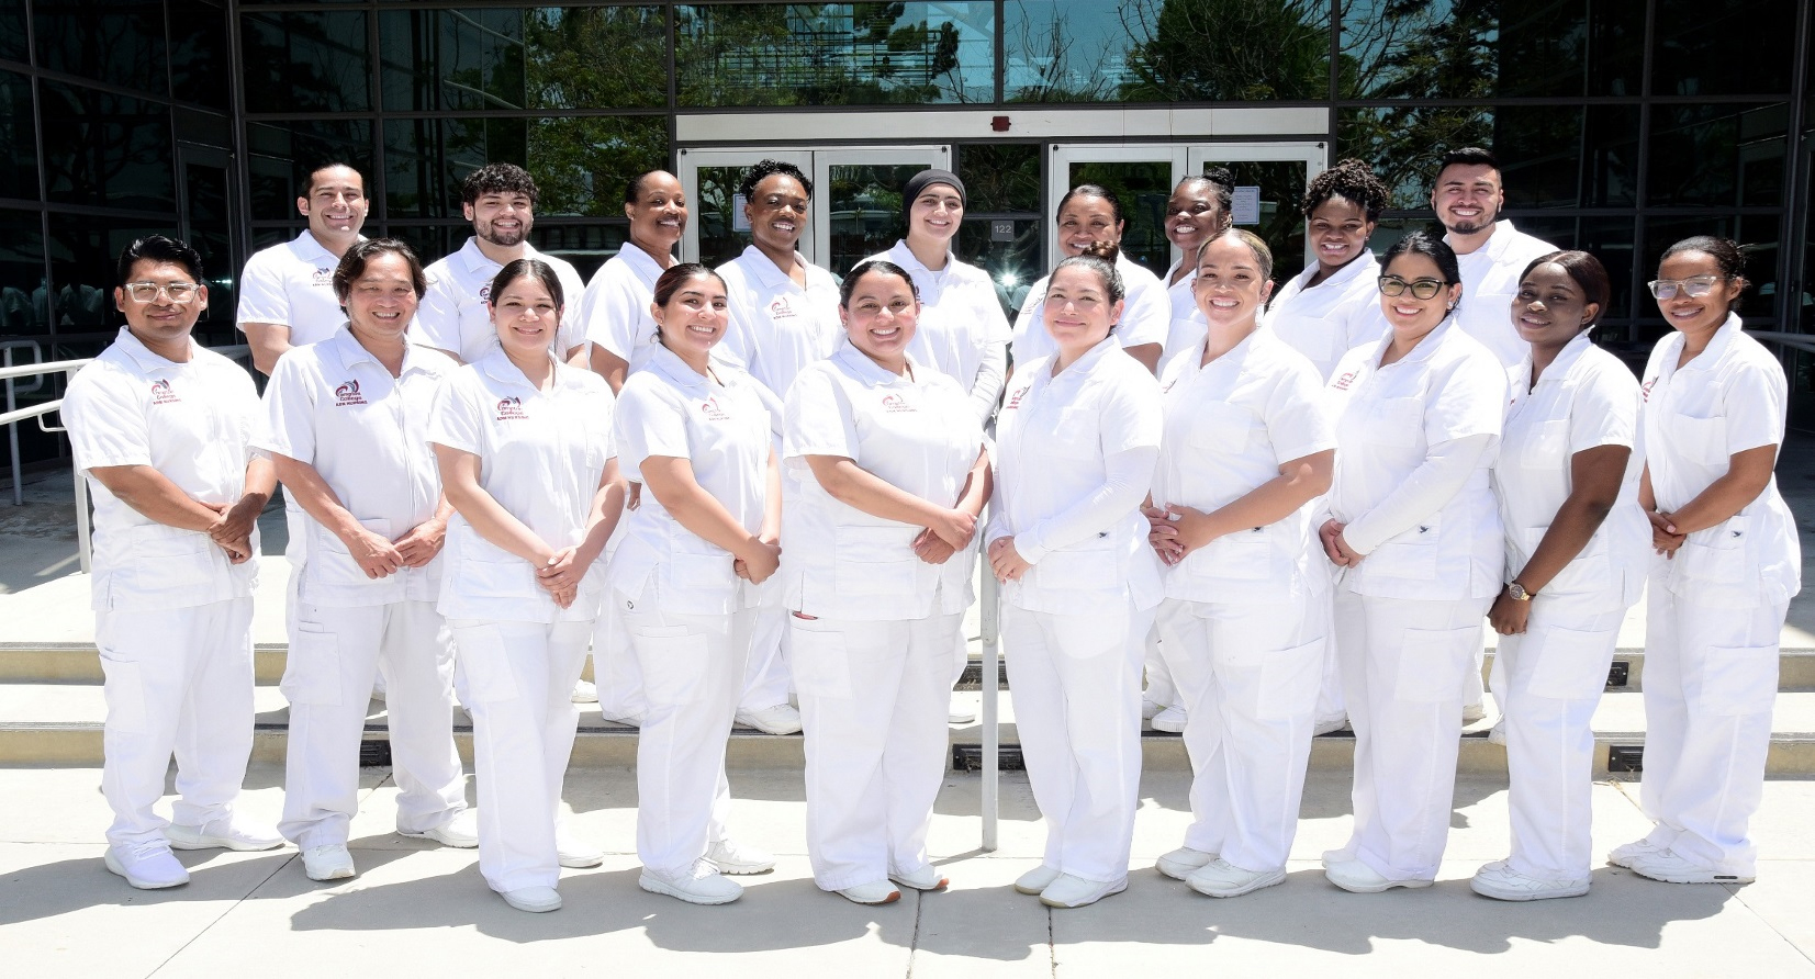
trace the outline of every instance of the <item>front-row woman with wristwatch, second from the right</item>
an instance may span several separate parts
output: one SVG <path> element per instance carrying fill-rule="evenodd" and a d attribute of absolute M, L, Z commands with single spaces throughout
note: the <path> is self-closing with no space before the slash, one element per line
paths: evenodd
<path fill-rule="evenodd" d="M 1595 703 L 1619 624 L 1644 589 L 1648 529 L 1632 459 L 1639 383 L 1590 332 L 1608 277 L 1588 252 L 1525 270 L 1512 325 L 1530 344 L 1494 460 L 1506 533 L 1506 587 L 1494 689 L 1512 778 L 1512 856 L 1481 867 L 1476 894 L 1537 901 L 1588 894 Z"/>

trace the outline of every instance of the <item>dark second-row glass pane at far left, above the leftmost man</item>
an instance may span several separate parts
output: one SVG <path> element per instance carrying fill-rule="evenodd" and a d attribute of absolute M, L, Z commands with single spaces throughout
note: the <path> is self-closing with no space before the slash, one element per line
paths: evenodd
<path fill-rule="evenodd" d="M 60 82 L 40 82 L 51 201 L 176 210 L 171 109 Z"/>

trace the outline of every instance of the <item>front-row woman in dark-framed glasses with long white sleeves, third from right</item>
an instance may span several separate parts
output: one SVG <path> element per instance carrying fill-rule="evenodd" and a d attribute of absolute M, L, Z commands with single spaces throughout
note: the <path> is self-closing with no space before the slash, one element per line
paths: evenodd
<path fill-rule="evenodd" d="M 1350 350 L 1329 393 L 1336 477 L 1323 551 L 1341 571 L 1336 636 L 1356 731 L 1354 832 L 1323 854 L 1354 892 L 1430 887 L 1450 830 L 1463 676 L 1501 587 L 1488 466 L 1506 373 L 1456 328 L 1456 252 L 1421 232 L 1387 252 L 1387 334 Z"/>

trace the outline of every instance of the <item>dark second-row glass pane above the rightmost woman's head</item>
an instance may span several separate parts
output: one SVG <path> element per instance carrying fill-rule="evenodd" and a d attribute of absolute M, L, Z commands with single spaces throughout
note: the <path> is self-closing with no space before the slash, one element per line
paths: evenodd
<path fill-rule="evenodd" d="M 1652 107 L 1650 203 L 1781 205 L 1786 120 L 1781 102 Z"/>

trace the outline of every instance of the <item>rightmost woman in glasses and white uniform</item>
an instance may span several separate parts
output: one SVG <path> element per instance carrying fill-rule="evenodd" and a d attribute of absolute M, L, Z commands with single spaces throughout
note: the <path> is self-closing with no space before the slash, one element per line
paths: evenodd
<path fill-rule="evenodd" d="M 1741 332 L 1744 256 L 1719 237 L 1672 245 L 1652 296 L 1675 328 L 1644 366 L 1652 522 L 1644 631 L 1644 781 L 1657 825 L 1608 863 L 1670 883 L 1744 883 L 1764 792 L 1779 636 L 1802 587 L 1797 528 L 1777 493 L 1786 381 Z"/>

